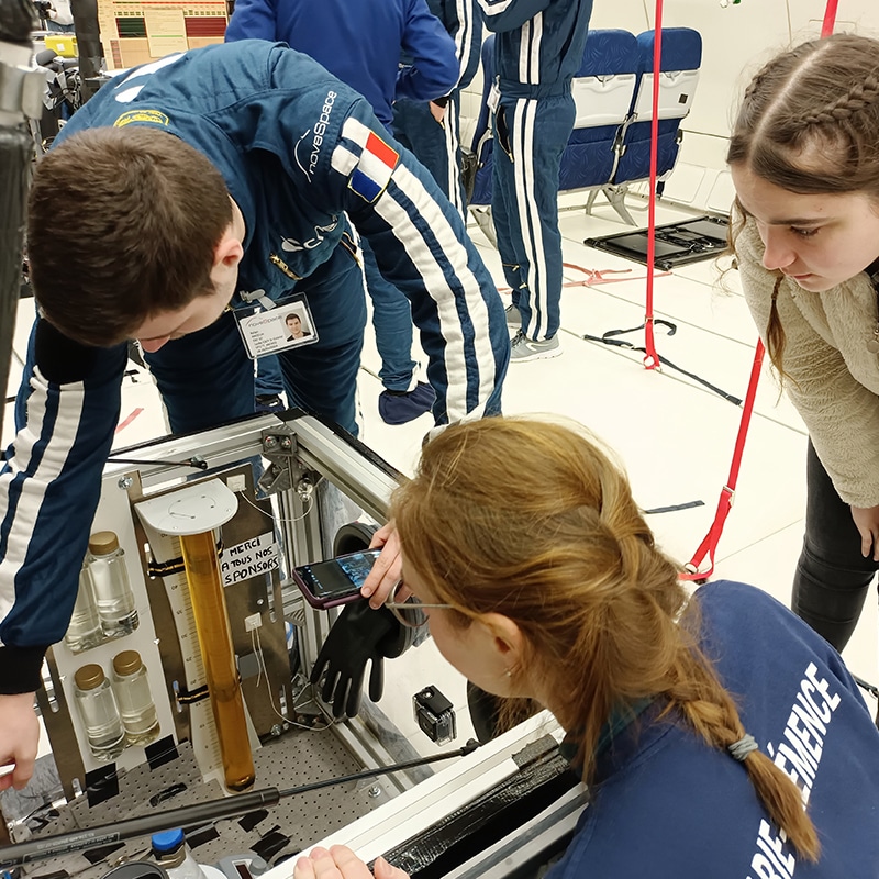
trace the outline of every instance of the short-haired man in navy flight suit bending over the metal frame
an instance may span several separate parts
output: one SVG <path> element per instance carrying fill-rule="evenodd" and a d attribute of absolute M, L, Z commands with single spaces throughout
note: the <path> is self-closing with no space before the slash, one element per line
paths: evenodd
<path fill-rule="evenodd" d="M 202 430 L 254 411 L 236 313 L 292 294 L 314 341 L 279 355 L 291 403 L 355 432 L 366 305 L 348 221 L 411 299 L 437 425 L 497 413 L 503 307 L 459 214 L 311 58 L 243 41 L 134 68 L 41 160 L 27 230 L 40 316 L 0 471 L 0 760 L 16 763 L 0 787 L 30 775 L 33 692 L 76 598 L 126 340 L 171 429 Z"/>

